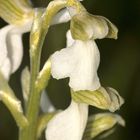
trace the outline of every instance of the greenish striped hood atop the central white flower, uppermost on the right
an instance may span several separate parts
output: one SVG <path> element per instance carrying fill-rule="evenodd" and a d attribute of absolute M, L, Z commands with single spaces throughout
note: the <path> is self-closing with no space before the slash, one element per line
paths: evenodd
<path fill-rule="evenodd" d="M 117 28 L 102 16 L 81 12 L 71 20 L 71 32 L 74 39 L 89 40 L 117 38 Z"/>

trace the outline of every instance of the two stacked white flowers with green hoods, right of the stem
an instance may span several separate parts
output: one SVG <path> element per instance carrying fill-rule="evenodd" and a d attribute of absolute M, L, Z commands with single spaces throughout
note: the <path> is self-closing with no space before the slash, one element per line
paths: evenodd
<path fill-rule="evenodd" d="M 117 28 L 105 17 L 91 15 L 85 9 L 75 12 L 70 7 L 68 11 L 71 26 L 67 45 L 51 56 L 51 74 L 56 79 L 69 77 L 72 101 L 48 123 L 47 140 L 81 140 L 88 120 L 88 105 L 114 112 L 124 102 L 116 90 L 101 87 L 97 74 L 100 53 L 95 39 L 116 39 Z"/>

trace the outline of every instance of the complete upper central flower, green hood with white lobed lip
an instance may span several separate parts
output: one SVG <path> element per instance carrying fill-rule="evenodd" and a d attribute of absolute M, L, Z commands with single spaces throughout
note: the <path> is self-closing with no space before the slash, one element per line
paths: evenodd
<path fill-rule="evenodd" d="M 70 14 L 74 11 L 68 10 Z M 94 91 L 100 87 L 97 75 L 100 53 L 95 39 L 116 39 L 118 30 L 105 17 L 93 16 L 85 9 L 71 16 L 67 47 L 51 56 L 51 73 L 56 79 L 69 77 L 69 86 L 74 91 Z"/>

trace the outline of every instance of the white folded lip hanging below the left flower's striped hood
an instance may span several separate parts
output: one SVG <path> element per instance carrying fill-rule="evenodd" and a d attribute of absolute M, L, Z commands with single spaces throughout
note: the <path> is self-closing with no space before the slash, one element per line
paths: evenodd
<path fill-rule="evenodd" d="M 0 30 L 0 69 L 8 80 L 21 64 L 23 57 L 22 34 L 31 29 L 29 21 L 22 26 L 7 25 Z"/>

